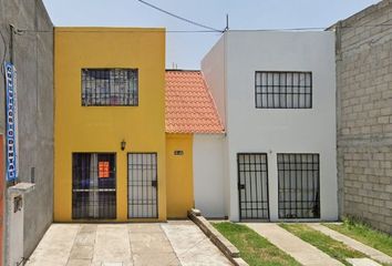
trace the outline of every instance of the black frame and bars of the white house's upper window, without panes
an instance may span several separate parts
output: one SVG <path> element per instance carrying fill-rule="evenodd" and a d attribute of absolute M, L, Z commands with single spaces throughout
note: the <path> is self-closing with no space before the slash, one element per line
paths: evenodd
<path fill-rule="evenodd" d="M 260 84 L 258 84 L 257 83 L 257 78 L 258 78 L 258 74 L 260 74 L 260 80 L 262 79 L 261 78 L 261 74 L 262 73 L 265 73 L 265 74 L 267 74 L 267 76 L 268 76 L 268 74 L 272 74 L 272 92 L 269 92 L 269 90 L 268 89 L 266 89 L 266 93 L 264 93 L 261 90 L 261 88 L 262 86 L 269 86 L 268 85 L 268 82 L 267 82 L 267 85 L 262 85 L 262 81 L 261 81 L 261 83 Z M 286 74 L 286 83 L 287 83 L 287 74 L 305 74 L 305 76 L 307 75 L 307 74 L 310 74 L 310 84 L 309 85 L 300 85 L 300 84 L 298 84 L 298 85 L 290 85 L 290 86 L 288 86 L 287 84 L 285 84 L 285 85 L 275 85 L 274 84 L 274 74 L 279 74 L 279 81 L 280 81 L 280 74 Z M 291 80 L 293 80 L 292 79 L 292 75 L 291 75 Z M 298 79 L 298 81 L 300 81 L 300 79 Z M 274 91 L 274 89 L 275 89 L 275 86 L 277 86 L 277 88 L 286 88 L 285 89 L 285 93 L 282 93 L 282 92 L 275 92 Z M 260 88 L 260 92 L 258 92 L 258 88 Z M 288 93 L 287 92 L 287 89 L 288 88 L 291 88 L 291 93 Z M 293 92 L 293 89 L 295 88 L 297 88 L 297 90 L 298 90 L 298 92 Z M 309 92 L 307 92 L 307 88 L 309 88 Z M 300 92 L 300 89 L 305 89 L 305 92 L 303 93 L 301 93 Z M 298 105 L 297 106 L 293 106 L 293 100 L 291 100 L 291 106 L 288 106 L 288 104 L 287 104 L 287 95 L 289 95 L 289 94 L 291 94 L 291 99 L 293 99 L 293 96 L 295 95 L 297 95 L 297 98 L 298 98 L 298 100 L 297 100 L 297 103 L 298 103 Z M 258 95 L 261 95 L 261 99 L 260 99 L 260 101 L 258 101 Z M 279 99 L 280 99 L 280 96 L 281 95 L 286 95 L 286 102 L 285 102 L 285 106 L 282 105 L 282 104 L 280 104 L 280 100 L 279 100 L 279 106 L 278 105 L 276 105 L 276 104 L 274 104 L 274 106 L 268 106 L 268 96 L 269 95 L 272 95 L 272 99 L 275 99 L 275 95 L 279 95 Z M 310 104 L 309 104 L 309 106 L 303 106 L 303 108 L 301 108 L 301 106 L 299 106 L 300 105 L 300 96 L 301 95 L 303 95 L 305 96 L 305 105 L 306 105 L 306 95 L 309 95 L 310 96 Z M 265 106 L 264 104 L 262 104 L 262 96 L 267 96 L 267 106 Z M 312 109 L 313 108 L 313 72 L 312 71 L 265 71 L 265 70 L 260 70 L 260 71 L 255 71 L 255 108 L 256 109 Z"/>

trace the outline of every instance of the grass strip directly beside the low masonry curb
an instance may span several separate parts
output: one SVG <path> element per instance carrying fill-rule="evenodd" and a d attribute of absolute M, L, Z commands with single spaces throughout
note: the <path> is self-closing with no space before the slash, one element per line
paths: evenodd
<path fill-rule="evenodd" d="M 300 265 L 246 225 L 213 223 L 213 226 L 238 248 L 241 258 L 250 266 Z"/>

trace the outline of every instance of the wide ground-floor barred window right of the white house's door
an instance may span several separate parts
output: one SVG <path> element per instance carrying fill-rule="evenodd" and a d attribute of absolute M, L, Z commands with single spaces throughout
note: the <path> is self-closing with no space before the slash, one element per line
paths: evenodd
<path fill-rule="evenodd" d="M 279 218 L 320 218 L 319 154 L 278 154 Z"/>

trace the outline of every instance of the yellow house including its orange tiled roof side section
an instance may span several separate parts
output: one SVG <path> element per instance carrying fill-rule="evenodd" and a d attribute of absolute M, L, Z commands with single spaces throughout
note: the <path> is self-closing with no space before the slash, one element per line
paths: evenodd
<path fill-rule="evenodd" d="M 55 28 L 54 222 L 184 218 L 195 133 L 221 133 L 199 71 L 165 71 L 165 30 Z"/>

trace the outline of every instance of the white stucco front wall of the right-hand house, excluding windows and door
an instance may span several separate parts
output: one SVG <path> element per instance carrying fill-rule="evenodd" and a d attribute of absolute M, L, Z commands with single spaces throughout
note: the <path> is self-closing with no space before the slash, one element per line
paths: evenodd
<path fill-rule="evenodd" d="M 237 153 L 261 152 L 268 153 L 271 221 L 278 219 L 277 153 L 320 154 L 321 219 L 337 219 L 334 33 L 229 31 L 225 34 L 226 47 L 220 48 L 226 52 L 225 60 L 213 50 L 202 69 L 210 70 L 206 74 L 208 83 L 220 79 L 226 88 L 229 218 L 239 218 Z M 225 75 L 214 71 L 217 62 L 226 64 Z M 311 71 L 312 109 L 256 109 L 255 71 Z"/>

